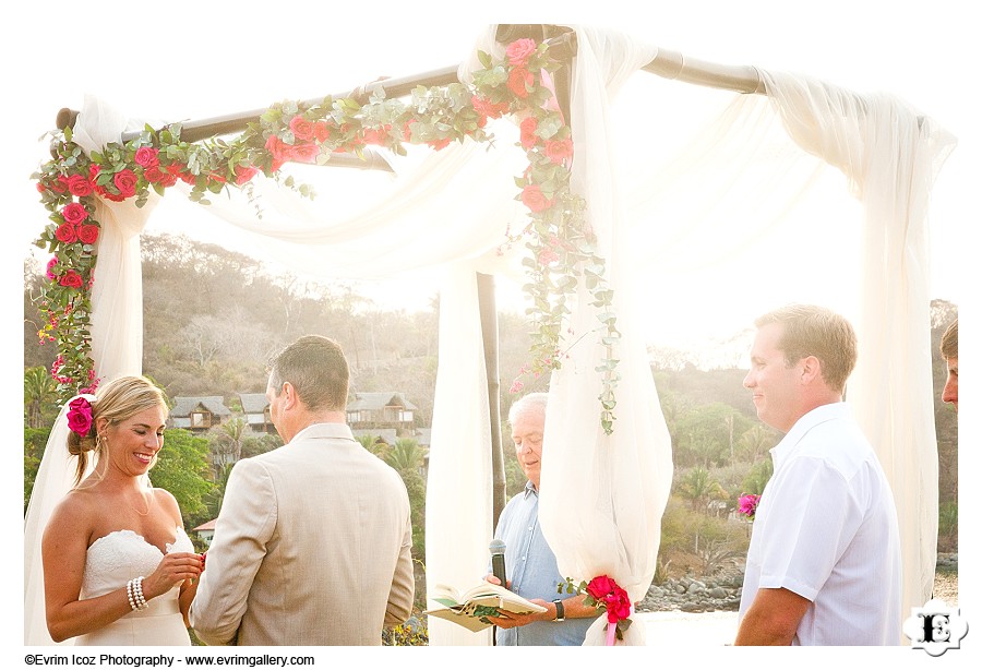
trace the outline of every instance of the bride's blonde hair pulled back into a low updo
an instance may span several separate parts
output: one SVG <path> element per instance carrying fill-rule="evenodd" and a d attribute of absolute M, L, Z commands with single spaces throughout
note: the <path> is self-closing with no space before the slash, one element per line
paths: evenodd
<path fill-rule="evenodd" d="M 110 424 L 117 424 L 145 409 L 158 406 L 165 414 L 168 411 L 164 393 L 145 376 L 120 376 L 105 386 L 99 386 L 92 403 L 92 423 L 88 431 L 85 434 L 69 431 L 68 451 L 73 456 L 79 456 L 75 486 L 82 481 L 88 466 L 88 452 L 101 455 L 106 447 L 96 431 L 96 421 L 99 418 L 108 419 Z"/>

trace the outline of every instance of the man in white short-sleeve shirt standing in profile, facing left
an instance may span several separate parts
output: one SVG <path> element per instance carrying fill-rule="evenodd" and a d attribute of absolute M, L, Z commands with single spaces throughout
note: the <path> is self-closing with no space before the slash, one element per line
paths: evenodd
<path fill-rule="evenodd" d="M 756 510 L 738 645 L 895 645 L 901 563 L 893 493 L 842 403 L 857 359 L 842 316 L 790 306 L 756 321 L 744 386 L 787 433 Z"/>

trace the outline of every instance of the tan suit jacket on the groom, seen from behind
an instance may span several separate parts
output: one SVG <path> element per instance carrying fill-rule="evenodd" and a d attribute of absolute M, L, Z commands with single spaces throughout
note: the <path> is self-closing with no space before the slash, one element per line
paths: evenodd
<path fill-rule="evenodd" d="M 343 423 L 236 464 L 194 602 L 209 645 L 379 645 L 409 618 L 409 498 Z"/>

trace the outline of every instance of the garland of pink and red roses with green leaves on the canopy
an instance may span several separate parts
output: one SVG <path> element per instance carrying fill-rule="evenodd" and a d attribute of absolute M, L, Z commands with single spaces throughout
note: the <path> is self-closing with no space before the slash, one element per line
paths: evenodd
<path fill-rule="evenodd" d="M 491 140 L 483 130 L 488 119 L 512 113 L 522 119 L 518 144 L 529 159 L 529 167 L 516 178 L 520 189 L 516 200 L 528 207 L 530 223 L 518 235 L 506 234 L 505 243 L 524 237 L 531 251 L 523 263 L 529 277 L 525 290 L 531 299 L 527 313 L 534 332 L 531 362 L 519 370 L 511 390 L 520 391 L 525 375 L 538 378 L 561 368 L 570 348 L 585 335 L 564 331 L 567 303 L 582 277 L 600 313 L 597 330 L 607 357 L 598 368 L 602 383 L 598 399 L 601 424 L 612 432 L 619 379 L 613 350 L 620 333 L 611 309 L 612 291 L 604 280 L 604 260 L 585 217 L 586 203 L 570 188 L 572 133 L 551 86 L 551 73 L 561 63 L 549 57 L 547 44 L 531 39 L 508 45 L 502 62 L 493 62 L 483 52 L 478 56 L 482 69 L 474 73 L 472 85 L 418 86 L 408 103 L 385 99 L 381 88 L 367 104 L 331 97 L 320 104 L 284 101 L 230 141 L 184 142 L 180 124 L 175 123 L 160 130 L 146 127 L 133 140 L 86 155 L 72 141 L 70 128 L 55 132 L 53 158 L 33 178 L 51 220 L 36 244 L 53 254 L 47 266 L 49 283 L 38 299 L 47 316 L 38 336 L 41 342 L 58 340 L 51 375 L 59 396 L 93 393 L 99 381 L 89 333 L 100 229 L 95 219 L 98 198 L 116 202 L 135 198 L 136 205 L 143 205 L 151 189 L 163 195 L 181 180 L 192 187 L 192 201 L 207 204 L 209 193 L 229 187 L 249 189 L 259 171 L 278 179 L 286 161 L 325 164 L 333 152 L 360 155 L 368 145 L 403 155 L 404 143 L 440 151 L 465 137 L 486 142 Z M 313 195 L 292 178 L 284 183 L 302 195 Z"/>

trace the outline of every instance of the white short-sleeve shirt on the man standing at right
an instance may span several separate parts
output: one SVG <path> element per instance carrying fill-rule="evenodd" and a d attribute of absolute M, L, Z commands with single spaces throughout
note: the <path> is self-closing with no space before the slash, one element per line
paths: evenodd
<path fill-rule="evenodd" d="M 794 645 L 900 643 L 897 510 L 845 403 L 813 409 L 770 450 L 746 557 L 740 619 L 762 588 L 807 598 Z"/>

